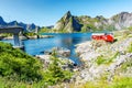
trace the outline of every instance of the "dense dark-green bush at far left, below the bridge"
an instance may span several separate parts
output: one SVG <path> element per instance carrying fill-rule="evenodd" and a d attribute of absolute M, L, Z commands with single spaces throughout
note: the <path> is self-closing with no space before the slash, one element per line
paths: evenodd
<path fill-rule="evenodd" d="M 0 42 L 0 76 L 8 76 L 18 80 L 41 79 L 41 63 L 11 44 Z"/>

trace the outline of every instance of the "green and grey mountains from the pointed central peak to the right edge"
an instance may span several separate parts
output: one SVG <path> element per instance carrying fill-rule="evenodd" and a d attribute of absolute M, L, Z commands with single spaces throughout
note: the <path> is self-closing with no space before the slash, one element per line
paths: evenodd
<path fill-rule="evenodd" d="M 68 11 L 54 26 L 57 32 L 92 32 L 103 30 L 122 30 L 132 26 L 132 13 L 121 12 L 109 19 L 97 15 L 75 16 Z"/>

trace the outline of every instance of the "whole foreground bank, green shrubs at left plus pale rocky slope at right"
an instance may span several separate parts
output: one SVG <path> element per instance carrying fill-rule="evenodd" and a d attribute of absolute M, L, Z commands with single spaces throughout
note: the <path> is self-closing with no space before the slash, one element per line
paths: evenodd
<path fill-rule="evenodd" d="M 114 43 L 78 44 L 80 67 L 62 61 L 54 50 L 46 62 L 0 42 L 0 87 L 132 88 L 132 29 L 113 34 Z"/>

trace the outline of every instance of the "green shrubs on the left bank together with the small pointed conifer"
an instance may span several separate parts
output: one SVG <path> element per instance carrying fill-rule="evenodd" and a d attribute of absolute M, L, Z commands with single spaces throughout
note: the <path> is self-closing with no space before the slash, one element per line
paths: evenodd
<path fill-rule="evenodd" d="M 73 73 L 64 70 L 56 54 L 44 69 L 38 59 L 0 42 L 0 88 L 42 88 L 69 80 Z"/>

